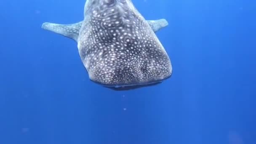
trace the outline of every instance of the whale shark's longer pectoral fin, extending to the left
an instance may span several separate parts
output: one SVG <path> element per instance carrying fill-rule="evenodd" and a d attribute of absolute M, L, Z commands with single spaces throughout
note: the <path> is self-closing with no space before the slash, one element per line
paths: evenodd
<path fill-rule="evenodd" d="M 64 35 L 65 37 L 69 37 L 77 41 L 82 24 L 83 21 L 75 24 L 54 24 L 45 22 L 42 24 L 42 28 L 60 35 Z"/>

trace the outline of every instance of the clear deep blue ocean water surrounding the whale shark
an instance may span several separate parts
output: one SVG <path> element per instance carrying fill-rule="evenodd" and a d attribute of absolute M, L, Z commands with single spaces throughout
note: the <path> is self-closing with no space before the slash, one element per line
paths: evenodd
<path fill-rule="evenodd" d="M 77 44 L 41 29 L 85 0 L 0 1 L 0 144 L 256 144 L 256 2 L 133 0 L 173 64 L 160 85 L 89 80 Z"/>

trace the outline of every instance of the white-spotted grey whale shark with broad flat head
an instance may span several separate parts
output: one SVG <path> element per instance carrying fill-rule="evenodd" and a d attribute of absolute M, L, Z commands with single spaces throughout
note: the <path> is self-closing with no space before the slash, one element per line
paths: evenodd
<path fill-rule="evenodd" d="M 51 23 L 42 27 L 77 41 L 91 80 L 106 86 L 128 86 L 171 76 L 171 61 L 154 32 L 166 25 L 154 22 L 146 21 L 131 0 L 87 0 L 84 20 L 66 25 L 68 32 L 54 29 Z"/>

